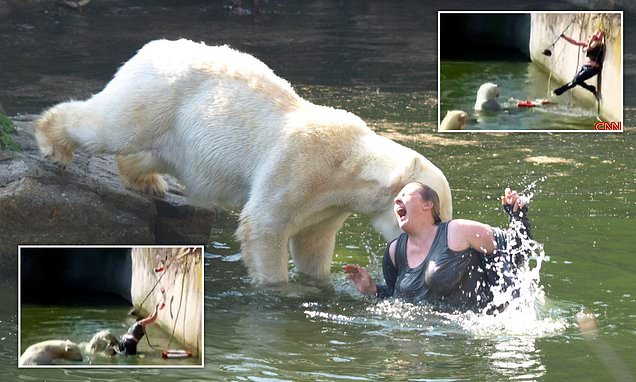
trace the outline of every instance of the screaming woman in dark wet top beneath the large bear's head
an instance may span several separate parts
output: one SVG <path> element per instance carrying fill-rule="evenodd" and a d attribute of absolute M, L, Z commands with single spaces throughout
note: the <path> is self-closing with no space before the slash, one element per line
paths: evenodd
<path fill-rule="evenodd" d="M 493 290 L 514 288 L 517 267 L 523 264 L 523 241 L 530 239 L 527 207 L 516 191 L 505 190 L 507 230 L 477 221 L 441 222 L 437 193 L 421 183 L 407 184 L 394 200 L 394 213 L 404 231 L 391 241 L 382 260 L 385 285 L 376 285 L 358 265 L 343 266 L 359 292 L 378 298 L 396 297 L 453 310 L 493 313 Z M 518 290 L 508 290 L 511 298 Z"/>

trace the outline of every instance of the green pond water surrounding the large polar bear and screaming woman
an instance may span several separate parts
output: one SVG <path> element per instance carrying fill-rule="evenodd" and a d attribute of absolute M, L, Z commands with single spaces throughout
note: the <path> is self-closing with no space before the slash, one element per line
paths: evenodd
<path fill-rule="evenodd" d="M 451 184 L 456 218 L 504 226 L 499 208 L 503 189 L 532 192 L 534 236 L 545 253 L 539 271 L 541 289 L 529 292 L 533 299 L 527 306 L 496 318 L 362 298 L 341 266 L 362 264 L 379 277 L 384 242 L 364 216 L 354 215 L 338 234 L 330 280 L 307 280 L 290 263 L 290 285 L 263 290 L 250 285 L 239 244 L 233 239 L 235 225 L 217 226 L 204 265 L 205 368 L 18 369 L 18 291 L 17 281 L 9 278 L 0 282 L 1 380 L 635 379 L 636 133 L 632 126 L 636 98 L 629 86 L 625 86 L 624 133 L 438 134 L 435 12 L 445 6 L 443 2 L 405 2 L 399 7 L 376 1 L 265 2 L 262 18 L 254 20 L 227 16 L 223 2 L 220 10 L 214 8 L 216 2 L 187 2 L 178 12 L 170 2 L 147 8 L 134 2 L 113 3 L 111 8 L 89 7 L 82 16 L 56 11 L 61 15 L 49 12 L 45 21 L 12 19 L 15 25 L 36 28 L 22 27 L 22 40 L 10 40 L 16 41 L 15 47 L 2 40 L 5 51 L 18 62 L 10 64 L 13 75 L 2 77 L 8 85 L 0 92 L 0 102 L 9 114 L 38 112 L 65 98 L 98 91 L 117 65 L 150 38 L 229 42 L 257 54 L 303 97 L 354 112 L 374 130 L 432 160 Z M 462 9 L 466 4 L 457 6 Z M 565 6 L 541 1 L 506 6 L 553 4 Z M 56 17 L 68 27 L 55 26 L 51 20 Z M 628 26 L 633 15 L 626 14 L 625 19 Z M 178 30 L 183 25 L 188 26 L 185 32 Z M 626 36 L 633 36 L 627 28 Z M 1 33 L 7 30 L 7 24 L 0 25 Z M 54 43 L 36 39 L 42 37 L 39 31 Z M 82 33 L 102 41 L 110 55 L 105 57 L 104 49 L 88 48 L 93 46 L 91 37 Z M 630 83 L 636 56 L 627 37 L 625 82 Z M 52 57 L 47 65 L 18 49 L 45 40 L 48 51 L 31 50 L 31 55 Z M 519 63 L 468 66 L 481 65 L 499 65 L 501 78 L 517 73 L 524 79 L 513 80 L 520 83 L 532 71 Z M 441 96 L 444 111 L 446 101 Z M 24 329 L 44 321 L 49 333 L 66 331 L 84 338 L 102 325 L 123 330 L 125 310 L 25 306 L 22 318 Z M 597 330 L 579 329 L 577 322 L 584 312 L 595 318 Z M 151 340 L 160 342 L 163 336 L 159 332 Z M 149 362 L 155 358 L 148 355 Z"/>

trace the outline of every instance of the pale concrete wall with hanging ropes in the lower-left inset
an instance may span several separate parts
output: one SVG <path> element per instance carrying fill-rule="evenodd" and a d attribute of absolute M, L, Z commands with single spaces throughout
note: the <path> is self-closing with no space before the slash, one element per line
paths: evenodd
<path fill-rule="evenodd" d="M 166 306 L 157 324 L 195 355 L 202 350 L 203 264 L 202 248 L 133 248 L 132 302 L 147 316 L 166 291 Z M 157 271 L 158 267 L 165 267 Z M 158 282 L 159 280 L 159 282 Z M 157 283 L 158 282 L 158 283 Z M 178 348 L 177 344 L 172 345 Z"/>

